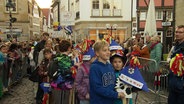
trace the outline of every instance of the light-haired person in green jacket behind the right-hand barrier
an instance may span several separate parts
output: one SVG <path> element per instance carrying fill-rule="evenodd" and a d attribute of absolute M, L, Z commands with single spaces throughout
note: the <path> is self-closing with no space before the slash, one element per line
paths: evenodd
<path fill-rule="evenodd" d="M 151 37 L 151 52 L 150 52 L 150 59 L 156 61 L 156 65 L 150 65 L 151 70 L 158 70 L 159 64 L 162 57 L 162 44 L 159 42 L 158 36 Z"/>

